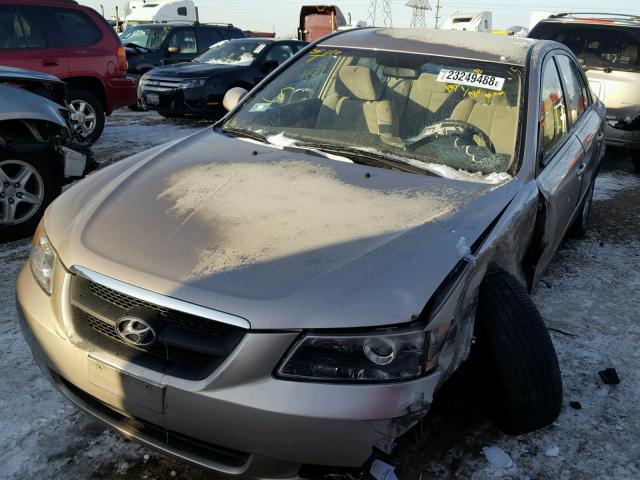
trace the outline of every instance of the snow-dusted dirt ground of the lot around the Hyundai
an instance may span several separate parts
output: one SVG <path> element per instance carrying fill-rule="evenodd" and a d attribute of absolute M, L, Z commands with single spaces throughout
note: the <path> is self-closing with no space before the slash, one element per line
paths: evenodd
<path fill-rule="evenodd" d="M 207 126 L 122 111 L 94 147 L 114 162 Z M 0 245 L 0 478 L 216 478 L 107 431 L 45 380 L 19 331 L 14 283 L 29 241 Z M 589 235 L 567 240 L 534 300 L 558 351 L 564 404 L 558 420 L 510 437 L 486 421 L 468 385 L 453 384 L 390 455 L 401 480 L 640 478 L 640 178 L 611 155 L 596 183 Z M 615 368 L 618 385 L 598 372 Z M 481 388 L 475 387 L 475 388 Z M 212 426 L 215 428 L 215 426 Z M 309 467 L 308 478 L 365 479 L 365 470 Z"/>

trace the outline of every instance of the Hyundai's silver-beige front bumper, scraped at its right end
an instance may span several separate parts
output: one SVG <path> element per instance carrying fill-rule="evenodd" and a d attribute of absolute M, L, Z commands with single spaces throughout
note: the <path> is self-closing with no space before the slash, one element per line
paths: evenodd
<path fill-rule="evenodd" d="M 65 300 L 71 277 L 58 264 L 52 297 L 28 266 L 18 278 L 20 324 L 43 372 L 126 436 L 222 474 L 297 478 L 301 464 L 360 466 L 426 413 L 440 380 L 440 373 L 385 385 L 276 379 L 296 332 L 248 332 L 204 380 L 172 377 L 83 344 Z"/>

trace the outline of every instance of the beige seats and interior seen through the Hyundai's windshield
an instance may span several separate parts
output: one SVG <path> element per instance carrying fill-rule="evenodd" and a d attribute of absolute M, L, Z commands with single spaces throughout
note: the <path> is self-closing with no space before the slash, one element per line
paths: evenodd
<path fill-rule="evenodd" d="M 434 73 L 342 65 L 323 99 L 316 126 L 347 131 L 361 126 L 383 142 L 392 143 L 390 139 L 408 138 L 439 121 L 462 120 L 485 132 L 496 153 L 512 157 L 517 100 L 511 101 L 504 92 L 476 90 L 476 96 L 471 97 L 469 89 L 466 91 L 438 82 Z"/>

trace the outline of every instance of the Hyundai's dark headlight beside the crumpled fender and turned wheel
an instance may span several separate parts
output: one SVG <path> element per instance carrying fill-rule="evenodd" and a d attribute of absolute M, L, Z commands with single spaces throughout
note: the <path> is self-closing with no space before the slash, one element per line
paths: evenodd
<path fill-rule="evenodd" d="M 303 337 L 277 370 L 281 378 L 307 381 L 388 382 L 425 373 L 424 327 L 372 335 Z"/>

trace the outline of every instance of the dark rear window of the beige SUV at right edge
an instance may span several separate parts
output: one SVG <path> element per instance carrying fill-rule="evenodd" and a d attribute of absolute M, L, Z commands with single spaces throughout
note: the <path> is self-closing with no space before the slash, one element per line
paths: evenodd
<path fill-rule="evenodd" d="M 530 37 L 564 43 L 590 68 L 640 71 L 640 29 L 541 22 Z"/>

